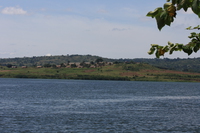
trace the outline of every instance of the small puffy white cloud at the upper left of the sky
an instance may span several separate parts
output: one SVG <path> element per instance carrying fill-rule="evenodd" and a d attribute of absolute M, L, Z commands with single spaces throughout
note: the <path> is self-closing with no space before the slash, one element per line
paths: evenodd
<path fill-rule="evenodd" d="M 24 11 L 22 8 L 19 7 L 6 7 L 1 11 L 2 14 L 9 14 L 9 15 L 24 15 L 27 11 Z"/>

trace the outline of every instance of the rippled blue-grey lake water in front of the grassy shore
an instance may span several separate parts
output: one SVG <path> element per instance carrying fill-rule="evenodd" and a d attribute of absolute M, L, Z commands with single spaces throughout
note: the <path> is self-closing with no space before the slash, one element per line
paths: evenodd
<path fill-rule="evenodd" d="M 0 79 L 1 133 L 200 133 L 200 83 Z"/>

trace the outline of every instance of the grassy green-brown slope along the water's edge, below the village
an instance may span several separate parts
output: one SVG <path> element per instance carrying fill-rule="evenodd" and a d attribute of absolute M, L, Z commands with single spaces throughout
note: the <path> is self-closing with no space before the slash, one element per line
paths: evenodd
<path fill-rule="evenodd" d="M 127 81 L 199 82 L 199 73 L 165 70 L 147 63 L 117 63 L 97 68 L 8 68 L 0 67 L 1 78 L 86 79 Z"/>

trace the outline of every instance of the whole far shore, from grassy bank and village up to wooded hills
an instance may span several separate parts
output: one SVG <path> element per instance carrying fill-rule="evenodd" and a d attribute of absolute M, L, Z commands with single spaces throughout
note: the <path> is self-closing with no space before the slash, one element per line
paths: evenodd
<path fill-rule="evenodd" d="M 200 58 L 108 59 L 68 55 L 0 59 L 0 66 L 1 78 L 200 81 Z"/>

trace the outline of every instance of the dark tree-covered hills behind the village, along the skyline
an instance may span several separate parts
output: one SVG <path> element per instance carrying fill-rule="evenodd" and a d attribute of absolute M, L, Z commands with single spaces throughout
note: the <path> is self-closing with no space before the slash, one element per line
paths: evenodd
<path fill-rule="evenodd" d="M 56 64 L 67 62 L 95 62 L 96 59 L 102 58 L 104 62 L 139 62 L 148 63 L 161 69 L 178 70 L 184 72 L 198 72 L 200 73 L 200 58 L 188 59 L 110 59 L 95 55 L 60 55 L 60 56 L 39 56 L 39 57 L 23 57 L 23 58 L 7 58 L 0 59 L 0 65 L 6 66 L 8 64 L 17 66 L 37 66 L 44 64 Z"/>

